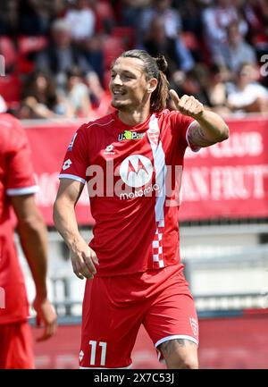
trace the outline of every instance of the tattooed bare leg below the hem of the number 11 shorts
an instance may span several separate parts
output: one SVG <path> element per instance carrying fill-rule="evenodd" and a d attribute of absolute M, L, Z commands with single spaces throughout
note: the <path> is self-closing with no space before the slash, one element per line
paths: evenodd
<path fill-rule="evenodd" d="M 163 354 L 167 368 L 197 369 L 197 344 L 187 339 L 164 341 L 159 349 Z"/>

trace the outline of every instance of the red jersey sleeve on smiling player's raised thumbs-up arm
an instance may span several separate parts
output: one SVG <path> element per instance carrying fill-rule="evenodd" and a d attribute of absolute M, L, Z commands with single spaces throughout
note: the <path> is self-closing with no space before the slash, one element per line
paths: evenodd
<path fill-rule="evenodd" d="M 189 117 L 188 115 L 181 114 L 177 111 L 172 111 L 171 115 L 171 123 L 174 130 L 178 131 L 178 140 L 181 144 L 181 147 L 190 147 L 190 149 L 194 152 L 197 152 L 199 150 L 199 147 L 195 147 L 188 141 L 188 130 L 190 130 L 191 125 L 196 122 L 192 117 Z"/>

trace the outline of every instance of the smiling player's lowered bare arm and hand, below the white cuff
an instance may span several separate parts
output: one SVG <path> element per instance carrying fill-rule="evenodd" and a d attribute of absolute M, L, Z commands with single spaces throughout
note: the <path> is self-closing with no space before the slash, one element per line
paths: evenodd
<path fill-rule="evenodd" d="M 61 179 L 54 202 L 54 225 L 71 251 L 73 272 L 80 280 L 92 279 L 98 261 L 95 252 L 81 237 L 75 215 L 75 206 L 80 198 L 83 184 L 71 179 Z"/>

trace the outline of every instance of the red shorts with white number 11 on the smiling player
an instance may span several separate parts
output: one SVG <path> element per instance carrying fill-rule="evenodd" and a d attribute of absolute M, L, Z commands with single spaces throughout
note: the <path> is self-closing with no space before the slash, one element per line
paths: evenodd
<path fill-rule="evenodd" d="M 87 281 L 80 368 L 130 366 L 141 324 L 155 349 L 172 339 L 198 344 L 197 312 L 182 265 Z"/>

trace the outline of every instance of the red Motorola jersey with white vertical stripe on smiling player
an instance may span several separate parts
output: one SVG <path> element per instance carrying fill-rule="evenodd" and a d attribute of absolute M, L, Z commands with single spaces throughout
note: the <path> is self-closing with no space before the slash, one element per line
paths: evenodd
<path fill-rule="evenodd" d="M 96 275 L 180 264 L 178 192 L 193 121 L 164 110 L 128 126 L 114 112 L 73 136 L 59 177 L 88 182 Z"/>

